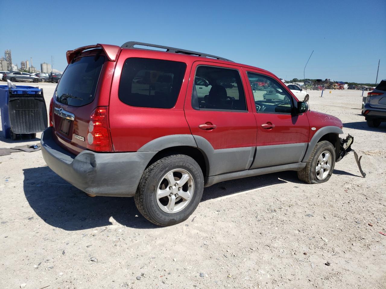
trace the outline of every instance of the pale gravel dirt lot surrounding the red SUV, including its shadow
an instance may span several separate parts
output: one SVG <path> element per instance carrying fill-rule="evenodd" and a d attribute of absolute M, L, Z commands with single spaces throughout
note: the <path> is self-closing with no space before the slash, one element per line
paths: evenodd
<path fill-rule="evenodd" d="M 39 87 L 48 107 L 55 86 Z M 0 287 L 386 288 L 386 123 L 367 127 L 361 91 L 320 93 L 310 108 L 342 119 L 366 178 L 349 154 L 322 185 L 291 171 L 219 183 L 167 228 L 132 198 L 86 197 L 40 151 L 1 156 Z"/>

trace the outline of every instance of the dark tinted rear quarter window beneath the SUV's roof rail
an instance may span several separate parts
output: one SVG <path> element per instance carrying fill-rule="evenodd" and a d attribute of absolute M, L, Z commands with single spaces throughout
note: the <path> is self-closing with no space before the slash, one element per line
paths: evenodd
<path fill-rule="evenodd" d="M 141 108 L 173 108 L 186 71 L 183 62 L 129 58 L 119 84 L 119 99 Z"/>

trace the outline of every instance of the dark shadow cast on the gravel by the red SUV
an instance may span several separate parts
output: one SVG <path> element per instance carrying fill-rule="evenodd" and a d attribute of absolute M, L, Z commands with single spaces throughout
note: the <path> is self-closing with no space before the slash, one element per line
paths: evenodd
<path fill-rule="evenodd" d="M 134 198 L 87 197 L 47 166 L 24 169 L 24 194 L 31 208 L 47 224 L 67 231 L 111 225 L 113 217 L 121 225 L 140 229 L 157 228 L 135 207 Z M 224 181 L 204 189 L 201 202 L 225 195 L 269 187 L 279 183 L 301 183 L 295 171 L 272 173 Z M 261 193 L 264 192 L 263 190 Z"/>

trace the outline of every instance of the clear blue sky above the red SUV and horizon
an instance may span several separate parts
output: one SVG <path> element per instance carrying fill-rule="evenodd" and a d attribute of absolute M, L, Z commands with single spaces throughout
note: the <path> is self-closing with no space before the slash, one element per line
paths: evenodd
<path fill-rule="evenodd" d="M 5 1 L 1 56 L 51 63 L 88 44 L 140 41 L 219 55 L 284 79 L 386 78 L 386 1 Z M 8 13 L 9 12 L 9 13 Z M 6 14 L 7 13 L 7 14 Z M 31 19 L 34 19 L 31 21 Z M 10 30 L 6 31 L 7 28 Z"/>

